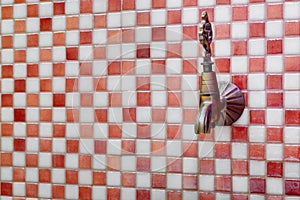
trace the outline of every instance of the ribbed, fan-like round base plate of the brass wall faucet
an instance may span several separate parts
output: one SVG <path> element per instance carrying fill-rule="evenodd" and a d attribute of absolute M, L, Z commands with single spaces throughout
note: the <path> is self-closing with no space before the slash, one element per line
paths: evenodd
<path fill-rule="evenodd" d="M 221 115 L 218 125 L 232 125 L 242 115 L 245 99 L 241 90 L 233 83 L 219 82 Z"/>

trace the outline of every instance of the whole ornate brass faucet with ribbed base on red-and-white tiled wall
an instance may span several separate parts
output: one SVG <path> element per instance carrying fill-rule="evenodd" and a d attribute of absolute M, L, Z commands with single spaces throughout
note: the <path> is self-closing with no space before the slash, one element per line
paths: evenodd
<path fill-rule="evenodd" d="M 203 72 L 199 112 L 195 124 L 196 134 L 210 133 L 216 125 L 231 125 L 238 120 L 245 108 L 243 94 L 236 85 L 217 81 L 216 73 L 212 70 L 212 38 L 212 26 L 207 12 L 204 11 L 199 27 L 199 41 L 203 46 Z"/>

